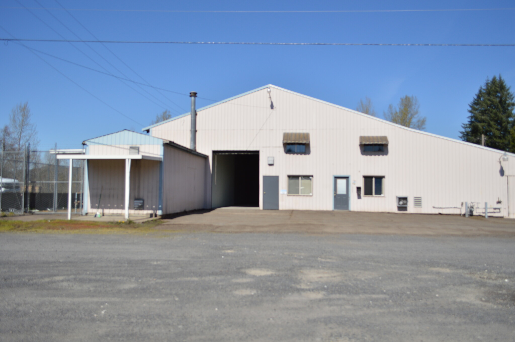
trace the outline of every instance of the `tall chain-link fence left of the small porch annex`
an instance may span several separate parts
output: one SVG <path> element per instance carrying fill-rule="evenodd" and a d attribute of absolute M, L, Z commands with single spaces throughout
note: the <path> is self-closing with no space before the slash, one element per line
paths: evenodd
<path fill-rule="evenodd" d="M 72 212 L 81 212 L 84 161 L 72 162 Z M 67 210 L 69 166 L 52 150 L 0 151 L 2 214 Z"/>

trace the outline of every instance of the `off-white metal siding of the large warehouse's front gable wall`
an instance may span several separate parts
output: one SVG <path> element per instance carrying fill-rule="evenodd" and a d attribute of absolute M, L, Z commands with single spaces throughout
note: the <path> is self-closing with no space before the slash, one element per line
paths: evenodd
<path fill-rule="evenodd" d="M 462 202 L 488 202 L 508 213 L 506 176 L 500 175 L 500 152 L 443 137 L 414 132 L 328 103 L 271 87 L 218 104 L 197 113 L 197 150 L 259 150 L 260 193 L 263 175 L 278 175 L 287 189 L 287 175 L 312 175 L 312 196 L 280 195 L 280 209 L 333 209 L 333 176 L 350 175 L 350 209 L 397 211 L 396 196 L 409 197 L 407 212 L 459 213 Z M 284 132 L 310 133 L 310 154 L 285 154 Z M 190 143 L 190 116 L 151 129 L 151 135 Z M 362 155 L 360 135 L 387 136 L 388 155 Z M 275 157 L 268 166 L 268 156 Z M 515 197 L 515 157 L 502 162 Z M 363 196 L 363 176 L 384 176 L 384 196 Z M 211 182 L 207 176 L 205 181 Z M 356 187 L 362 187 L 362 199 Z M 210 186 L 208 185 L 208 188 Z M 413 197 L 423 197 L 414 208 Z M 497 202 L 502 202 L 497 204 Z M 510 216 L 515 217 L 510 198 Z M 262 195 L 260 195 L 262 207 Z M 449 207 L 438 209 L 434 207 Z"/>

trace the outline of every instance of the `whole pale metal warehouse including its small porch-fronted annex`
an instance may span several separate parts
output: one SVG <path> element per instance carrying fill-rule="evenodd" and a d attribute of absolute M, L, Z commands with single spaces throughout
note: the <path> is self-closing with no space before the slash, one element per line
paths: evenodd
<path fill-rule="evenodd" d="M 85 154 L 74 156 L 88 159 L 85 211 L 97 210 L 102 191 L 113 213 L 259 206 L 459 214 L 468 202 L 482 214 L 487 202 L 490 215 L 515 217 L 515 154 L 274 85 L 195 118 L 193 130 L 186 113 L 145 128 L 149 135 L 85 140 Z"/>

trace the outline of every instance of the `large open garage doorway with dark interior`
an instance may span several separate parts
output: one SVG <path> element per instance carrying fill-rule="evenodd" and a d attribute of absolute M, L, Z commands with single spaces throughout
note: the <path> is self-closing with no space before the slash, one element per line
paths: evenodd
<path fill-rule="evenodd" d="M 259 207 L 259 151 L 213 151 L 211 206 Z"/>

